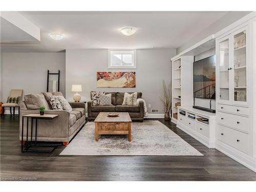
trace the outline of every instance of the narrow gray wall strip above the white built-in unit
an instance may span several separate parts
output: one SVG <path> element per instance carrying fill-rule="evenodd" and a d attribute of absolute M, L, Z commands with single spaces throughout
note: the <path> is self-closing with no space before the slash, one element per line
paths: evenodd
<path fill-rule="evenodd" d="M 207 27 L 205 30 L 197 34 L 194 38 L 190 39 L 186 44 L 180 46 L 177 49 L 177 54 L 186 50 L 187 48 L 193 46 L 197 42 L 203 40 L 204 38 L 210 36 L 211 34 L 215 34 L 216 32 L 222 30 L 223 28 L 229 26 L 230 24 L 236 22 L 238 19 L 243 16 L 249 14 L 251 11 L 230 11 L 220 19 L 218 19 L 214 24 Z M 193 29 L 191 29 L 193 30 Z"/>

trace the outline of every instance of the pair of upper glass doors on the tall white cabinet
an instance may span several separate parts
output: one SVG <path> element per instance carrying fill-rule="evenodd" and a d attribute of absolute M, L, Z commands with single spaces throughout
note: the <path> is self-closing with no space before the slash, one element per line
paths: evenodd
<path fill-rule="evenodd" d="M 218 102 L 247 104 L 247 27 L 217 40 Z"/>

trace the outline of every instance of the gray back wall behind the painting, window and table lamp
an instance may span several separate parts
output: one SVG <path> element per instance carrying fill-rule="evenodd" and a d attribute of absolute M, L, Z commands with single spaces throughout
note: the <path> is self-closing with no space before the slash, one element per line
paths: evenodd
<path fill-rule="evenodd" d="M 72 84 L 82 84 L 82 100 L 90 100 L 91 91 L 142 92 L 142 98 L 151 109 L 164 113 L 159 97 L 163 95 L 163 80 L 170 82 L 170 58 L 176 55 L 175 49 L 137 50 L 137 69 L 108 69 L 107 49 L 66 50 L 66 98 L 73 100 Z M 135 71 L 136 88 L 97 88 L 97 71 Z M 151 112 L 148 109 L 148 112 Z"/>

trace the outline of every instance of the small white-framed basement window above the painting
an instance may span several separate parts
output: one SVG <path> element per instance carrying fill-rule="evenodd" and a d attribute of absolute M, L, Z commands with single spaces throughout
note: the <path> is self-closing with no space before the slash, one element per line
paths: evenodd
<path fill-rule="evenodd" d="M 136 50 L 109 50 L 110 69 L 136 69 Z"/>

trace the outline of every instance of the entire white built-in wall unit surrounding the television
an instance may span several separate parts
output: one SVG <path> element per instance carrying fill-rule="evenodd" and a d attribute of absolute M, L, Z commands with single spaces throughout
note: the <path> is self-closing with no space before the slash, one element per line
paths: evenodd
<path fill-rule="evenodd" d="M 194 56 L 214 48 L 216 115 L 193 108 Z M 172 61 L 172 122 L 256 172 L 256 12 L 191 46 Z M 181 106 L 177 108 L 176 102 Z M 173 118 L 175 113 L 177 119 Z"/>

